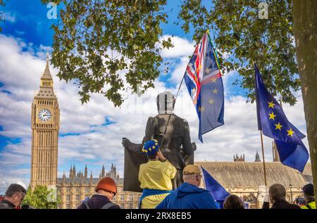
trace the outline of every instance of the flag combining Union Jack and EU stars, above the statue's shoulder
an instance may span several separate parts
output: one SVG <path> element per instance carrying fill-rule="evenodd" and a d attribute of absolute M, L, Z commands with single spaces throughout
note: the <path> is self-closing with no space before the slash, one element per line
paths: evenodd
<path fill-rule="evenodd" d="M 216 51 L 208 32 L 196 46 L 185 71 L 185 83 L 199 118 L 199 140 L 202 134 L 223 125 L 223 79 Z"/>

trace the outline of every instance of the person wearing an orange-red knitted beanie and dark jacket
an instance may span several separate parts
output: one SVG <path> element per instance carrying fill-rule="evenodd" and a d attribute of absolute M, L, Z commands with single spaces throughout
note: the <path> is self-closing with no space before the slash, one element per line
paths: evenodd
<path fill-rule="evenodd" d="M 102 178 L 94 191 L 96 193 L 88 200 L 84 200 L 77 209 L 120 209 L 120 206 L 111 202 L 117 193 L 116 182 L 113 179 Z"/>

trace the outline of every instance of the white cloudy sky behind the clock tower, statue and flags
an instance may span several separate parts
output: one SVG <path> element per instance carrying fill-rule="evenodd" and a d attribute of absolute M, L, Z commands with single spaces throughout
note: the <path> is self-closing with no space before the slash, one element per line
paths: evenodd
<path fill-rule="evenodd" d="M 187 51 L 178 48 L 178 54 L 165 52 L 166 58 L 174 58 L 175 69 L 170 80 L 179 83 L 188 63 L 187 54 L 192 47 L 186 39 L 174 37 L 183 44 Z M 177 45 L 177 44 L 176 44 Z M 182 45 L 180 45 L 182 46 Z M 32 51 L 32 44 L 19 39 L 0 35 L 0 120 L 3 130 L 1 136 L 20 138 L 20 143 L 9 143 L 0 151 L 0 193 L 9 183 L 21 181 L 26 186 L 30 179 L 31 103 L 35 90 L 39 89 L 39 78 L 45 68 L 44 50 Z M 178 45 L 177 45 L 178 47 Z M 25 50 L 30 49 L 30 51 Z M 24 50 L 23 50 L 24 49 Z M 178 61 L 178 62 L 176 62 Z M 115 163 L 120 176 L 123 176 L 123 146 L 121 138 L 128 137 L 139 143 L 149 116 L 157 113 L 155 98 L 157 94 L 167 90 L 165 83 L 156 80 L 156 89 L 150 89 L 142 97 L 135 94 L 127 96 L 120 108 L 104 96 L 94 94 L 89 103 L 81 105 L 74 84 L 66 84 L 54 75 L 54 90 L 58 96 L 61 109 L 61 129 L 58 141 L 58 174 L 65 170 L 68 176 L 70 164 L 76 164 L 77 170 L 83 170 L 87 163 L 94 177 L 99 175 L 102 164 L 110 167 Z M 225 89 L 231 87 L 230 75 L 225 75 Z M 176 94 L 177 89 L 169 89 Z M 10 91 L 11 94 L 3 91 Z M 295 126 L 306 134 L 302 99 L 294 106 L 284 106 L 285 113 Z M 242 96 L 230 96 L 225 101 L 225 125 L 204 134 L 204 144 L 197 139 L 198 120 L 185 84 L 175 104 L 175 114 L 189 122 L 192 141 L 197 143 L 195 159 L 198 160 L 232 160 L 235 153 L 245 153 L 247 161 L 253 161 L 256 151 L 261 152 L 260 136 L 256 127 L 255 105 L 245 103 Z M 106 120 L 114 122 L 106 125 Z M 271 139 L 264 137 L 266 160 L 271 160 Z M 306 139 L 304 143 L 307 146 Z"/>

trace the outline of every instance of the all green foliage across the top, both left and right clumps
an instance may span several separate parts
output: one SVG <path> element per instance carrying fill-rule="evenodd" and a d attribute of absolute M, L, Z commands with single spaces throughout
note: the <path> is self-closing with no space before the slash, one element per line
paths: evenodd
<path fill-rule="evenodd" d="M 42 0 L 48 3 L 51 0 Z M 295 60 L 291 0 L 268 1 L 268 19 L 259 19 L 263 0 L 213 0 L 206 8 L 201 0 L 180 1 L 182 30 L 193 27 L 199 42 L 213 30 L 223 71 L 237 70 L 240 84 L 254 100 L 254 60 L 266 87 L 282 101 L 296 103 L 299 90 Z M 63 5 L 54 29 L 52 63 L 58 77 L 72 80 L 80 88 L 82 103 L 92 93 L 101 93 L 115 106 L 123 92 L 143 92 L 154 87 L 163 59 L 162 48 L 173 46 L 162 39 L 160 25 L 167 23 L 166 0 L 58 0 Z M 179 24 L 177 23 L 177 24 Z M 227 55 L 227 56 L 226 56 Z"/>

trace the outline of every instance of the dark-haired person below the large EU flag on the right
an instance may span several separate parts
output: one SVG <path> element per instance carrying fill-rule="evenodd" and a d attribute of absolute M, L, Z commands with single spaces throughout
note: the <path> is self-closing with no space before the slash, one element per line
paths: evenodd
<path fill-rule="evenodd" d="M 273 184 L 268 189 L 268 198 L 272 203 L 271 209 L 300 209 L 298 205 L 288 203 L 286 198 L 286 189 L 282 184 Z M 266 200 L 266 199 L 265 199 Z M 267 200 L 263 203 L 263 209 L 269 209 L 270 203 Z"/>

